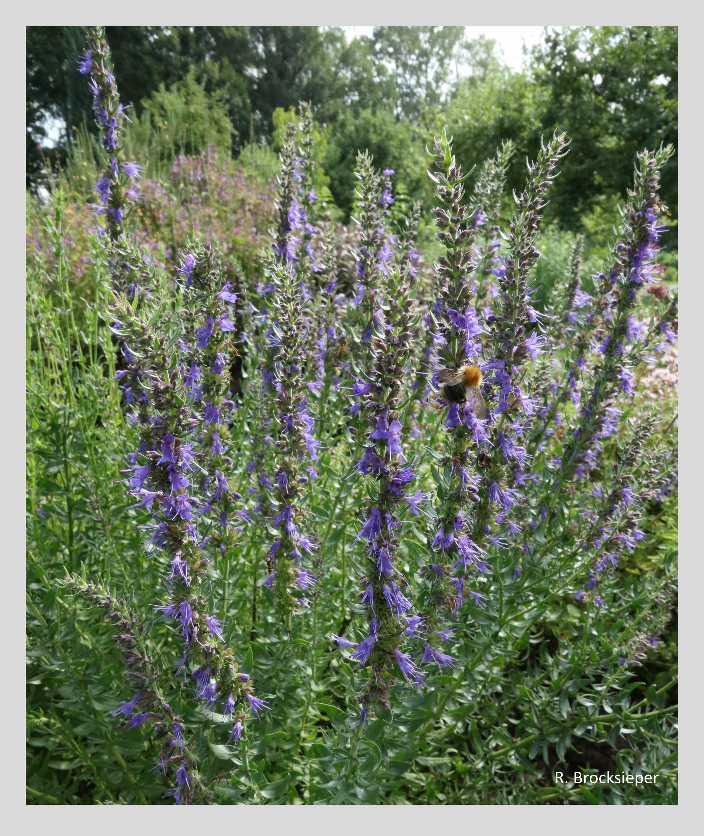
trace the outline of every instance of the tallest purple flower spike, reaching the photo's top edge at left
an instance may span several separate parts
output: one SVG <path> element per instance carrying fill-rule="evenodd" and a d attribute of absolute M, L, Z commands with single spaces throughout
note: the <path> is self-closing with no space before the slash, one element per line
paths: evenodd
<path fill-rule="evenodd" d="M 115 76 L 110 72 L 110 50 L 105 42 L 105 28 L 89 26 L 86 29 L 88 49 L 79 59 L 79 72 L 90 74 L 90 92 L 93 94 L 93 111 L 100 133 L 100 144 L 105 149 L 105 170 L 95 184 L 99 205 L 98 215 L 105 215 L 110 238 L 115 240 L 123 232 L 124 212 L 127 201 L 136 202 L 134 182 L 140 177 L 142 166 L 125 159 L 122 147 L 122 120 L 125 106 L 120 104 Z"/>

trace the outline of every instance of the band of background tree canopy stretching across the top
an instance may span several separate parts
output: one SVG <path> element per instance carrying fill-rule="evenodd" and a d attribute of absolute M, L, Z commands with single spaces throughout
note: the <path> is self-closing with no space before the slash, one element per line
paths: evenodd
<path fill-rule="evenodd" d="M 92 130 L 93 119 L 75 71 L 83 28 L 26 31 L 27 185 L 33 187 L 48 126 L 60 126 L 60 157 L 75 130 L 83 124 Z M 579 227 L 606 184 L 625 194 L 638 150 L 676 145 L 676 27 L 545 28 L 520 72 L 502 64 L 492 40 L 467 41 L 464 28 L 451 26 L 375 27 L 351 41 L 341 28 L 301 26 L 118 26 L 107 27 L 106 36 L 120 95 L 135 115 L 162 106 L 153 101 L 160 89 L 192 97 L 198 84 L 224 108 L 235 156 L 248 144 L 272 140 L 277 109 L 309 101 L 327 126 L 324 165 L 345 214 L 358 149 L 405 171 L 403 187 L 423 199 L 426 137 L 442 125 L 454 133 L 466 166 L 512 139 L 518 154 L 509 184 L 517 187 L 523 158 L 540 136 L 567 131 L 569 166 L 548 211 L 566 228 Z M 676 161 L 662 191 L 676 210 Z"/>

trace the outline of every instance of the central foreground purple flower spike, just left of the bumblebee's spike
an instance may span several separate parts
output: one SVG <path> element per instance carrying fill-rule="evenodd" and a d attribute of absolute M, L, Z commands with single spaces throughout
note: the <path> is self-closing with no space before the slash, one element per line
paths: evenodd
<path fill-rule="evenodd" d="M 413 686 L 425 685 L 421 670 L 404 652 L 404 638 L 417 638 L 422 619 L 409 615 L 411 601 L 406 597 L 410 586 L 399 567 L 400 508 L 410 507 L 418 514 L 422 492 L 406 495 L 416 478 L 401 446 L 401 423 L 398 405 L 404 365 L 411 354 L 414 323 L 413 297 L 408 271 L 385 279 L 384 322 L 371 340 L 374 360 L 369 382 L 358 390 L 359 415 L 366 429 L 365 454 L 356 464 L 364 477 L 373 477 L 367 516 L 358 540 L 366 544 L 365 574 L 360 577 L 361 607 L 369 623 L 369 635 L 355 645 L 333 638 L 341 647 L 353 647 L 351 658 L 366 665 L 369 678 L 359 700 L 362 721 L 376 704 L 389 706 L 390 688 L 397 671 Z"/>

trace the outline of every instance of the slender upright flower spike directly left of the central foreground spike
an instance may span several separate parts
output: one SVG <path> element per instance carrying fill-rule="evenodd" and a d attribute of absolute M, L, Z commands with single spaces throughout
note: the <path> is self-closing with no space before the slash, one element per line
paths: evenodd
<path fill-rule="evenodd" d="M 315 578 L 304 568 L 303 554 L 318 548 L 300 529 L 306 516 L 302 502 L 305 484 L 314 477 L 313 466 L 302 472 L 305 461 L 317 460 L 319 442 L 313 433 L 314 419 L 309 414 L 304 388 L 306 366 L 306 325 L 303 313 L 303 292 L 289 266 L 275 264 L 269 273 L 275 292 L 273 296 L 273 379 L 277 392 L 274 398 L 276 436 L 276 511 L 273 525 L 278 536 L 269 550 L 273 573 L 265 584 L 274 587 L 278 609 L 288 629 L 291 614 L 298 606 L 294 587 L 305 592 Z M 300 602 L 306 605 L 307 599 Z"/>

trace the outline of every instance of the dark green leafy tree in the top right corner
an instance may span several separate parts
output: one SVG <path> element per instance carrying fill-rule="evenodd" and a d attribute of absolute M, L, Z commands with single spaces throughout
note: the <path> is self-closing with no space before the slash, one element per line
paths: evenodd
<path fill-rule="evenodd" d="M 677 30 L 671 26 L 544 30 L 531 70 L 544 91 L 543 130 L 566 130 L 569 164 L 553 212 L 576 227 L 589 200 L 613 188 L 621 196 L 635 155 L 677 141 Z M 676 213 L 676 157 L 662 174 L 664 201 Z"/>

